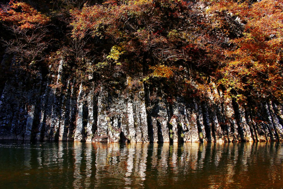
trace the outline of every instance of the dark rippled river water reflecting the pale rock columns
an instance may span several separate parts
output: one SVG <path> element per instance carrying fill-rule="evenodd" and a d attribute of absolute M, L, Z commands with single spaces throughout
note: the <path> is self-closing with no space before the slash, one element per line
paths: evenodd
<path fill-rule="evenodd" d="M 282 143 L 0 142 L 0 188 L 283 188 Z"/>

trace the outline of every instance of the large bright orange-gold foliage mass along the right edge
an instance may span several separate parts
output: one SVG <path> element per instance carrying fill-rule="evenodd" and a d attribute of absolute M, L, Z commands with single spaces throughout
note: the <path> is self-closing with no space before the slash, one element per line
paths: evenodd
<path fill-rule="evenodd" d="M 225 52 L 226 66 L 221 69 L 220 84 L 230 90 L 249 92 L 263 97 L 282 98 L 283 86 L 283 1 L 263 0 L 248 6 L 247 2 L 218 1 L 209 11 L 228 11 L 246 21 L 243 37 L 231 40 L 236 49 Z"/>

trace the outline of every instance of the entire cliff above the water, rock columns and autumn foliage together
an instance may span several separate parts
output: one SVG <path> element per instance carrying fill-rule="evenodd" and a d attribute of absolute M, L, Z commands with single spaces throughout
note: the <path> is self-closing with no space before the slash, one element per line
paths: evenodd
<path fill-rule="evenodd" d="M 24 2 L 0 9 L 0 139 L 283 140 L 281 1 Z"/>

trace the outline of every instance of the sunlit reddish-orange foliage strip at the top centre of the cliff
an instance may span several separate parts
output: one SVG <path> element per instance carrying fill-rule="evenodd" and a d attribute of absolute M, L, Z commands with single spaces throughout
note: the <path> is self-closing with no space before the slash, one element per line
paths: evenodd
<path fill-rule="evenodd" d="M 156 1 L 160 6 L 179 9 L 184 6 L 183 1 L 161 0 Z M 130 18 L 141 20 L 147 15 L 148 19 L 156 20 L 155 16 L 148 15 L 158 12 L 156 4 L 152 0 L 130 0 L 126 3 L 117 4 L 117 1 L 106 1 L 103 5 L 86 6 L 81 10 L 71 10 L 73 21 L 72 36 L 83 38 L 87 31 L 91 31 L 92 36 L 121 38 L 125 35 L 123 28 Z M 176 16 L 177 16 L 176 11 Z M 157 14 L 158 15 L 158 14 Z"/>

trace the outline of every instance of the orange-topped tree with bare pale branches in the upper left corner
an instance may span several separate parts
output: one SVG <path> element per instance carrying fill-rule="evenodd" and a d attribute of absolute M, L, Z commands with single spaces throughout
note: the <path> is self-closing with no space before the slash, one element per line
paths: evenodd
<path fill-rule="evenodd" d="M 37 61 L 43 60 L 42 52 L 47 48 L 44 27 L 50 19 L 27 3 L 10 1 L 0 9 L 0 20 L 10 31 L 10 40 L 3 40 L 7 45 L 6 53 L 14 53 L 15 66 L 31 69 Z"/>

